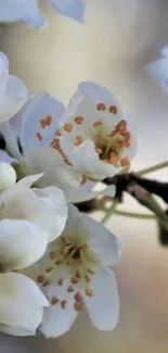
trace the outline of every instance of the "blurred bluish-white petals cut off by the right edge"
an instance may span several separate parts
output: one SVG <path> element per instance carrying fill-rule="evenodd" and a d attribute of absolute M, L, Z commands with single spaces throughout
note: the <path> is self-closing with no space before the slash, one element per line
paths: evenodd
<path fill-rule="evenodd" d="M 168 94 L 168 47 L 161 51 L 161 58 L 146 65 L 148 73 L 161 86 L 166 96 Z"/>

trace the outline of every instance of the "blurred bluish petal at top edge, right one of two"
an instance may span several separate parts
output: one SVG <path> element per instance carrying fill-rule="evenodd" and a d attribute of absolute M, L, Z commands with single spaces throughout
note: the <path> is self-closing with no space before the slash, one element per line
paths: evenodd
<path fill-rule="evenodd" d="M 61 14 L 83 22 L 85 3 L 82 0 L 51 0 L 51 4 Z"/>

